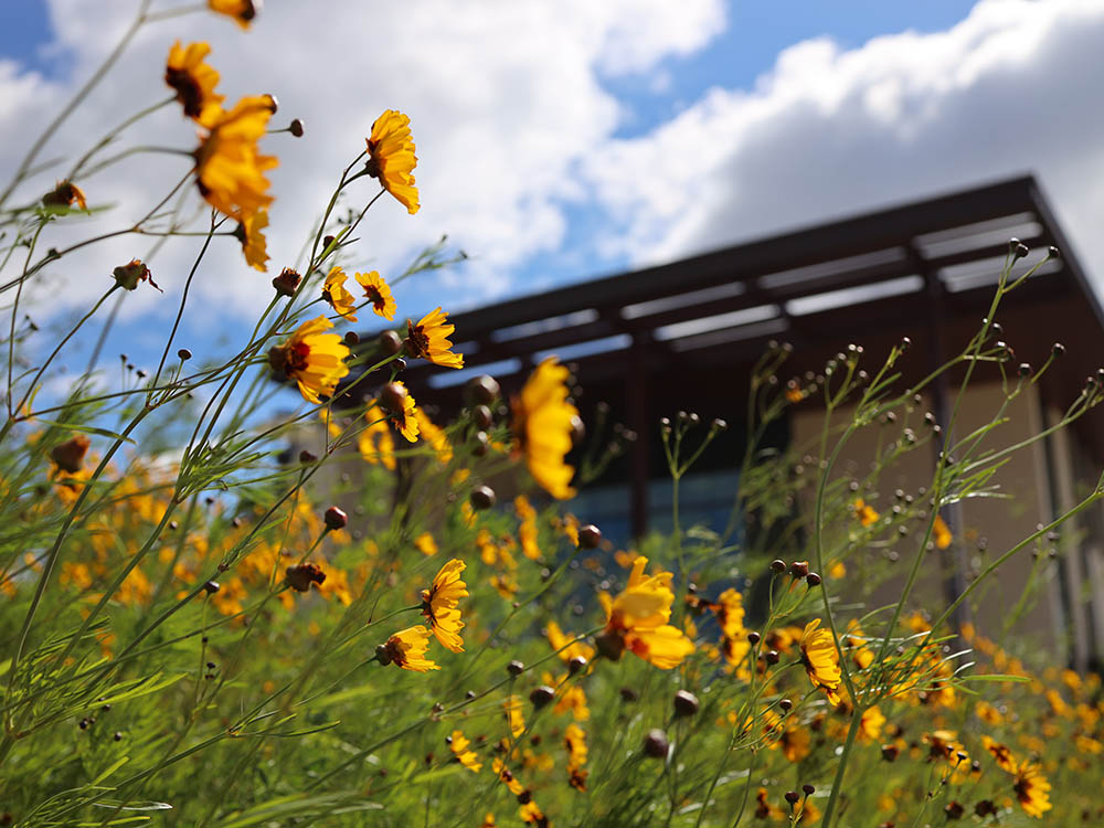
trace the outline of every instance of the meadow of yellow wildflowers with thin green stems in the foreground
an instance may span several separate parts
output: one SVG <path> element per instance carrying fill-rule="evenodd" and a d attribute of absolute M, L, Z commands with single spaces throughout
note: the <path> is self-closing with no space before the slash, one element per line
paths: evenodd
<path fill-rule="evenodd" d="M 919 383 L 901 378 L 907 341 L 857 341 L 800 376 L 772 344 L 728 379 L 750 401 L 728 531 L 680 521 L 678 487 L 729 426 L 675 403 L 652 424 L 673 529 L 615 545 L 573 507 L 602 460 L 583 461 L 596 436 L 567 364 L 541 361 L 512 394 L 478 376 L 455 417 L 403 383 L 415 360 L 464 367 L 447 308 L 403 307 L 404 284 L 463 254 L 432 246 L 399 273 L 350 264 L 370 210 L 418 219 L 416 113 L 347 136 L 328 203 L 283 204 L 267 174 L 308 125 L 270 94 L 220 94 L 208 44 L 138 6 L 118 50 L 146 26 L 164 38 L 148 67 L 160 103 L 44 163 L 109 57 L 44 135 L 6 137 L 26 155 L 0 182 L 0 826 L 1104 825 L 1100 677 L 962 612 L 1012 561 L 1037 562 L 1033 588 L 1104 480 L 987 550 L 953 602 L 921 588 L 964 542 L 947 510 L 999 497 L 1007 458 L 1104 399 L 1091 378 L 1060 422 L 1002 438 L 1063 347 L 1018 370 L 1001 300 L 1031 277 L 1013 264 L 1058 251 L 1012 240 L 989 312 Z M 250 36 L 250 0 L 209 6 L 195 13 Z M 115 139 L 166 108 L 179 146 L 140 182 L 141 217 L 79 238 L 112 215 L 96 182 L 126 174 Z M 298 262 L 266 253 L 277 209 L 299 216 Z M 82 266 L 120 235 L 151 255 Z M 193 265 L 172 276 L 187 282 L 155 368 L 124 358 L 59 382 L 77 332 L 167 284 L 169 236 Z M 272 298 L 225 352 L 198 358 L 178 327 L 203 312 L 187 287 L 226 278 L 204 267 L 213 246 L 240 251 L 233 277 L 270 280 Z M 49 337 L 25 317 L 47 269 L 103 284 Z M 355 323 L 384 332 L 362 341 Z M 955 427 L 981 371 L 1000 399 L 981 427 Z M 948 380 L 940 427 L 923 395 Z M 819 438 L 768 450 L 794 406 L 822 412 Z M 856 473 L 840 458 L 864 429 L 882 437 Z M 936 453 L 930 479 L 893 491 L 894 469 Z"/>

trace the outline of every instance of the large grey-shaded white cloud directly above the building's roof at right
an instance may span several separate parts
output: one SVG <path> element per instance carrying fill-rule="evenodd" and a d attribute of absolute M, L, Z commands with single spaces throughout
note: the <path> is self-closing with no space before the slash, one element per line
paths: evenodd
<path fill-rule="evenodd" d="M 1100 280 L 1101 43 L 1100 0 L 984 0 L 945 32 L 799 43 L 753 89 L 592 157 L 605 252 L 669 261 L 1034 172 Z"/>

